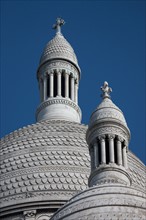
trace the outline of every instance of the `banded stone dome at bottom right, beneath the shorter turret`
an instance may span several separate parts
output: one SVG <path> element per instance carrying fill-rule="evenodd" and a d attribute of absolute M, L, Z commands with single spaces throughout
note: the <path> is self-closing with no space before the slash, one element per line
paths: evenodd
<path fill-rule="evenodd" d="M 73 197 L 51 220 L 144 220 L 144 191 L 118 184 L 101 184 Z"/>

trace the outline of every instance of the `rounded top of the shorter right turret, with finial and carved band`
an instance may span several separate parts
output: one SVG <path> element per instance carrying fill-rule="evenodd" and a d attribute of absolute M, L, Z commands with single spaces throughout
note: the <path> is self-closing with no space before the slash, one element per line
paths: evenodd
<path fill-rule="evenodd" d="M 87 140 L 89 140 L 89 142 L 92 141 L 96 134 L 98 134 L 98 136 L 113 134 L 123 138 L 126 144 L 129 143 L 130 130 L 123 112 L 110 99 L 112 89 L 108 86 L 106 81 L 101 87 L 101 90 L 103 91 L 101 95 L 103 99 L 91 114 L 86 135 Z M 89 142 L 87 141 L 88 144 Z"/>

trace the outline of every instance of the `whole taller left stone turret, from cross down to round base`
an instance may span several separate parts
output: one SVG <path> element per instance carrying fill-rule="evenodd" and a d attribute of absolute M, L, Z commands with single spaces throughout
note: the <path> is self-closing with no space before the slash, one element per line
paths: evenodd
<path fill-rule="evenodd" d="M 64 23 L 62 18 L 57 18 L 53 25 L 56 35 L 47 43 L 40 59 L 37 79 L 41 103 L 36 111 L 37 121 L 81 122 L 78 106 L 81 71 L 72 46 L 61 33 Z"/>

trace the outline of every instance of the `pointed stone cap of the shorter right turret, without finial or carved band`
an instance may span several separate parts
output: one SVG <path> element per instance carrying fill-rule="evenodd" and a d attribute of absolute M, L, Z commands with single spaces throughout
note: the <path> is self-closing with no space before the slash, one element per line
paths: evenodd
<path fill-rule="evenodd" d="M 109 98 L 103 99 L 101 104 L 92 113 L 90 125 L 95 123 L 95 121 L 104 122 L 107 120 L 119 122 L 127 127 L 127 123 L 122 111 Z"/>

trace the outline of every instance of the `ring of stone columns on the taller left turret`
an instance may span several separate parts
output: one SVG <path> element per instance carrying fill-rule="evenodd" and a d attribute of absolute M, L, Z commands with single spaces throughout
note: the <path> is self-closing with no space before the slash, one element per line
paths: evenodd
<path fill-rule="evenodd" d="M 70 72 L 54 70 L 39 79 L 41 101 L 47 98 L 70 98 L 78 104 L 78 80 Z"/>

